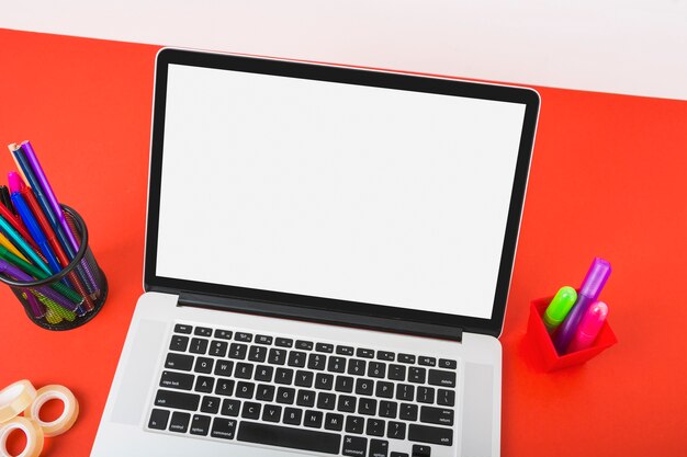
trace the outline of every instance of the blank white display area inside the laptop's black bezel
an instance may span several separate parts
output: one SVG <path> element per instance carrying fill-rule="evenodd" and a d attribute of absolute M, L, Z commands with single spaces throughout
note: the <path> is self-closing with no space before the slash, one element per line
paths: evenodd
<path fill-rule="evenodd" d="M 170 65 L 157 275 L 489 319 L 525 107 Z"/>

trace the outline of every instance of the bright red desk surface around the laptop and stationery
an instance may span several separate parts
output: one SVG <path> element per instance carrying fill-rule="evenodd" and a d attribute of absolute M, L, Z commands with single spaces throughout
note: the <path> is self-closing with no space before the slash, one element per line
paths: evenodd
<path fill-rule="evenodd" d="M 81 415 L 45 456 L 87 456 L 143 292 L 156 46 L 0 30 L 0 146 L 31 139 L 108 275 L 101 313 L 69 332 L 32 324 L 0 287 L 0 387 L 74 390 Z M 657 76 L 658 79 L 658 76 Z M 541 117 L 504 333 L 504 456 L 687 453 L 687 102 L 537 88 Z M 14 164 L 0 153 L 0 171 Z M 4 179 L 2 179 L 4 181 Z M 595 255 L 619 344 L 537 372 L 531 298 L 577 286 Z"/>

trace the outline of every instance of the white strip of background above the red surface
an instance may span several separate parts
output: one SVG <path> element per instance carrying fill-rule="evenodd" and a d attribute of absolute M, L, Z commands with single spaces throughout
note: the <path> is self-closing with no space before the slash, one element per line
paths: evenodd
<path fill-rule="evenodd" d="M 687 0 L 0 0 L 0 27 L 687 100 Z"/>

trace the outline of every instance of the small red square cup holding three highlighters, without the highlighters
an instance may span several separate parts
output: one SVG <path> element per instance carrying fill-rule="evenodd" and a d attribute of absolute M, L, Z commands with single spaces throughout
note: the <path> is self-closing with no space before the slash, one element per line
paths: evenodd
<path fill-rule="evenodd" d="M 616 334 L 608 324 L 608 320 L 606 320 L 592 346 L 570 354 L 559 355 L 543 321 L 544 311 L 552 299 L 553 297 L 547 297 L 532 300 L 530 302 L 530 318 L 527 323 L 526 338 L 529 343 L 528 350 L 532 354 L 534 362 L 544 372 L 582 365 L 618 342 Z"/>

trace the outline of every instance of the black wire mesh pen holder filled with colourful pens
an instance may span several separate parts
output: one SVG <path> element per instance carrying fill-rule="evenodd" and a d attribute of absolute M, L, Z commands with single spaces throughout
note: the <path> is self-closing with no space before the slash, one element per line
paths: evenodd
<path fill-rule="evenodd" d="M 108 279 L 88 245 L 86 222 L 69 206 L 61 207 L 78 244 L 69 264 L 48 276 L 26 256 L 5 252 L 3 260 L 9 266 L 0 274 L 0 281 L 10 286 L 29 319 L 47 330 L 83 325 L 98 315 L 108 297 Z M 42 253 L 36 253 L 45 261 Z"/>

